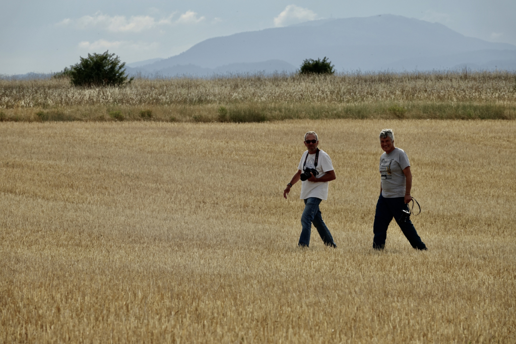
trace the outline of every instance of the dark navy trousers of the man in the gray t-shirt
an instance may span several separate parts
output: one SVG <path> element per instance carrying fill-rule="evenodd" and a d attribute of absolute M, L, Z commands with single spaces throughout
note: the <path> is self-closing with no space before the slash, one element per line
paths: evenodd
<path fill-rule="evenodd" d="M 385 198 L 380 194 L 376 203 L 375 223 L 373 225 L 373 233 L 375 234 L 373 249 L 383 250 L 385 238 L 387 237 L 387 228 L 392 218 L 394 218 L 412 247 L 417 250 L 426 250 L 426 245 L 417 235 L 416 228 L 412 221 L 410 221 L 410 218 L 407 218 L 405 221 L 401 219 L 403 210 L 409 210 L 404 197 Z"/>

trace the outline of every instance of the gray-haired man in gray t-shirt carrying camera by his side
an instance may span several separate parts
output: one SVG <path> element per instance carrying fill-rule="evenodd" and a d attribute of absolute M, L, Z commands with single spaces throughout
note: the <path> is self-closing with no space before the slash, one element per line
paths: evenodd
<path fill-rule="evenodd" d="M 412 201 L 412 172 L 404 150 L 394 146 L 394 133 L 383 129 L 380 133 L 380 146 L 384 153 L 380 157 L 380 196 L 376 203 L 375 223 L 373 225 L 373 248 L 383 250 L 387 228 L 392 219 L 401 228 L 414 249 L 426 250 L 426 245 L 417 235 L 410 221 L 408 203 Z"/>

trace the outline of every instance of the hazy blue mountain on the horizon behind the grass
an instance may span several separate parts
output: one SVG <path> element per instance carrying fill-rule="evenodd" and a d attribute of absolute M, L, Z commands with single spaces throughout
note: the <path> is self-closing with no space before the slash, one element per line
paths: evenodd
<path fill-rule="evenodd" d="M 198 75 L 281 72 L 304 59 L 328 57 L 337 72 L 507 68 L 514 70 L 516 46 L 466 37 L 422 20 L 384 14 L 324 19 L 215 37 L 187 51 L 128 72 Z"/>

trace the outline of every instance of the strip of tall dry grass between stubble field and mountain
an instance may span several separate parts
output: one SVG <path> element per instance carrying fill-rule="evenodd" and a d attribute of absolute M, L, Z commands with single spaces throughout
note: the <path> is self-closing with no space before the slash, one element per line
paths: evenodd
<path fill-rule="evenodd" d="M 221 116 L 221 107 L 227 110 L 227 116 Z M 123 116 L 112 116 L 116 111 Z M 150 111 L 152 117 L 141 116 L 142 111 Z M 0 79 L 0 121 L 340 118 L 516 119 L 516 74 L 136 79 L 125 88 L 75 88 L 66 79 Z"/>

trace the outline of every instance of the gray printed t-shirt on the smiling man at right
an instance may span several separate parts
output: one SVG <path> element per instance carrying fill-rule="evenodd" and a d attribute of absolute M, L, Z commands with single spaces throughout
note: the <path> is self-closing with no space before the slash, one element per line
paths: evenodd
<path fill-rule="evenodd" d="M 409 157 L 404 150 L 394 148 L 391 153 L 380 157 L 382 196 L 385 198 L 405 197 L 407 181 L 403 170 L 410 166 Z"/>

